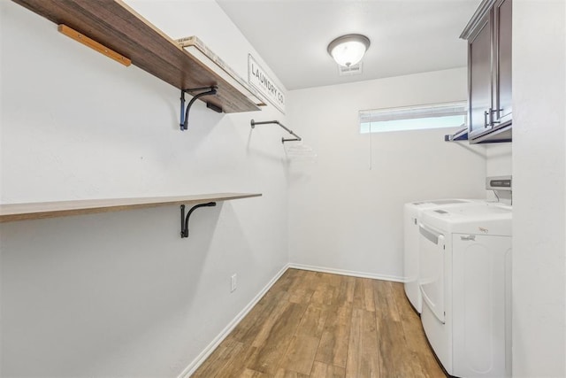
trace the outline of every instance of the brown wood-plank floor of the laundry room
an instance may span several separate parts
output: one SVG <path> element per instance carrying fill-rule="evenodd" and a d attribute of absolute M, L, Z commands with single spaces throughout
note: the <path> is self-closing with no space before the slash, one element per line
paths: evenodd
<path fill-rule="evenodd" d="M 193 377 L 445 377 L 402 283 L 289 269 Z"/>

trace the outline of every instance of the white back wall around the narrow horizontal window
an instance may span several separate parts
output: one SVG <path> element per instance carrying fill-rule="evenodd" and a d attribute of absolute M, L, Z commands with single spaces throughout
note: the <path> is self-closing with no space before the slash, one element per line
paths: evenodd
<path fill-rule="evenodd" d="M 291 163 L 292 263 L 402 279 L 402 206 L 486 197 L 486 150 L 455 130 L 360 135 L 358 111 L 466 98 L 466 69 L 295 90 L 289 127 L 317 151 Z M 370 166 L 371 155 L 371 169 Z"/>

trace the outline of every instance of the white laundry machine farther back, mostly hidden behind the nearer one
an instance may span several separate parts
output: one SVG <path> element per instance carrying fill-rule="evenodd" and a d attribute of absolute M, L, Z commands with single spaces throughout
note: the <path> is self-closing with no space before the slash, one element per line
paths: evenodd
<path fill-rule="evenodd" d="M 474 204 L 485 204 L 479 199 L 435 199 L 427 201 L 409 202 L 404 206 L 404 245 L 403 245 L 403 274 L 405 295 L 413 308 L 421 313 L 423 299 L 418 288 L 418 222 L 424 210 L 436 208 L 453 208 Z"/>

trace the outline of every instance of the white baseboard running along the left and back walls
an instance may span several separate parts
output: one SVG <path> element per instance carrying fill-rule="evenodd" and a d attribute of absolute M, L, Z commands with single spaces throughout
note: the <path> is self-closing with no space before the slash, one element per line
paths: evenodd
<path fill-rule="evenodd" d="M 238 323 L 248 314 L 248 312 L 259 302 L 259 300 L 264 297 L 265 293 L 272 288 L 273 284 L 279 280 L 281 275 L 283 275 L 287 269 L 294 268 L 294 269 L 302 269 L 302 270 L 310 270 L 313 272 L 321 272 L 321 273 L 330 273 L 330 274 L 341 274 L 341 275 L 350 275 L 353 277 L 362 277 L 362 278 L 372 278 L 375 280 L 383 280 L 383 281 L 393 281 L 393 282 L 403 282 L 402 277 L 397 277 L 393 275 L 384 275 L 384 274 L 371 274 L 371 273 L 364 273 L 364 272 L 355 272 L 351 270 L 344 270 L 344 269 L 334 269 L 324 266 L 307 266 L 302 264 L 287 264 L 283 266 L 283 268 L 275 274 L 270 282 L 267 282 L 264 289 L 262 289 L 259 293 L 257 293 L 256 297 L 254 297 L 240 313 L 238 313 L 235 318 L 220 332 L 218 336 L 212 340 L 212 342 L 204 348 L 201 354 L 198 355 L 196 359 L 193 360 L 183 372 L 179 375 L 178 378 L 188 378 L 191 374 L 195 373 L 196 369 L 201 366 L 205 359 L 207 359 L 210 354 L 216 350 L 218 345 L 222 343 L 222 341 L 232 332 L 233 328 L 235 328 Z"/>

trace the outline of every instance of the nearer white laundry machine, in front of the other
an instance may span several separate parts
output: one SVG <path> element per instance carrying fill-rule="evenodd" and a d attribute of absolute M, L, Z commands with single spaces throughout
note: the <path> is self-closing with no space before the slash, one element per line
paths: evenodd
<path fill-rule="evenodd" d="M 425 210 L 421 320 L 448 374 L 511 376 L 511 206 Z"/>

